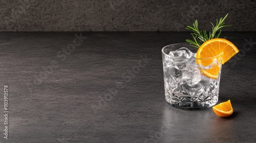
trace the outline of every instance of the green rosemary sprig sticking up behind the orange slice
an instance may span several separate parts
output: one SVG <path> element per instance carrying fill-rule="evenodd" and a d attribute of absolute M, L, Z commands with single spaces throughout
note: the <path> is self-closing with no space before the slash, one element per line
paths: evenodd
<path fill-rule="evenodd" d="M 193 36 L 194 41 L 186 39 L 186 42 L 190 43 L 191 46 L 199 48 L 200 45 L 202 45 L 207 40 L 219 38 L 220 34 L 221 34 L 221 28 L 231 26 L 231 25 L 224 25 L 225 18 L 227 17 L 227 15 L 228 15 L 228 13 L 226 14 L 225 17 L 221 17 L 219 19 L 219 21 L 218 21 L 218 19 L 216 19 L 216 21 L 217 21 L 216 26 L 214 26 L 214 24 L 212 22 L 210 22 L 212 25 L 212 29 L 211 29 L 211 31 L 209 31 L 209 34 L 207 34 L 206 30 L 203 30 L 203 31 L 199 30 L 198 21 L 195 20 L 195 22 L 193 23 L 193 27 L 190 27 L 190 26 L 186 27 L 187 30 L 193 32 L 193 33 L 191 33 L 191 35 Z M 219 31 L 219 33 L 217 34 L 218 31 Z"/>

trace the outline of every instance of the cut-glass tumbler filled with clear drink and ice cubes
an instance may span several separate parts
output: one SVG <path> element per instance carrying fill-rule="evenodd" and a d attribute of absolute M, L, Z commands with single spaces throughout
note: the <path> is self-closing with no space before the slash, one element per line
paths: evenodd
<path fill-rule="evenodd" d="M 218 102 L 222 54 L 197 59 L 197 50 L 189 43 L 170 44 L 162 49 L 165 100 L 172 106 L 204 109 Z M 215 78 L 203 72 L 212 68 L 218 69 Z"/>

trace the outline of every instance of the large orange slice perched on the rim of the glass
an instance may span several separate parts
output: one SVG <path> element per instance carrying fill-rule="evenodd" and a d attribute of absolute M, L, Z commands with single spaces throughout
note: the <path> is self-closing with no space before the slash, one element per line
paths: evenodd
<path fill-rule="evenodd" d="M 228 61 L 231 57 L 237 54 L 239 50 L 237 47 L 230 41 L 222 38 L 210 39 L 204 42 L 197 51 L 197 60 L 196 62 L 200 65 L 207 66 L 212 63 L 214 58 L 222 54 L 222 64 Z M 209 58 L 209 59 L 204 59 Z M 218 58 L 218 57 L 216 57 Z M 200 60 L 202 59 L 202 60 Z M 216 65 L 213 68 L 203 70 L 202 73 L 208 78 L 217 79 L 220 71 L 220 66 Z"/>

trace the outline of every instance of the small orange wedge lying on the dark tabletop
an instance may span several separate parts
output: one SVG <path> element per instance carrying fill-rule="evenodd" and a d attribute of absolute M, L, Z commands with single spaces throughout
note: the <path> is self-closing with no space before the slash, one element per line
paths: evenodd
<path fill-rule="evenodd" d="M 230 100 L 228 100 L 227 102 L 222 102 L 218 105 L 215 105 L 214 107 L 212 107 L 212 109 L 218 116 L 221 116 L 221 117 L 227 117 L 233 113 L 233 108 Z"/>

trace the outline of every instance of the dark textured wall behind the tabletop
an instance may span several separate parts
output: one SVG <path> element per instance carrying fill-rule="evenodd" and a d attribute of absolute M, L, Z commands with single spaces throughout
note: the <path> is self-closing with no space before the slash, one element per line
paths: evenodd
<path fill-rule="evenodd" d="M 229 13 L 224 31 L 256 31 L 255 0 L 1 0 L 0 31 L 186 31 Z"/>

